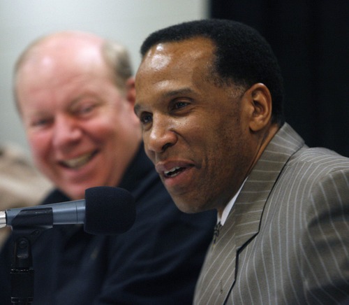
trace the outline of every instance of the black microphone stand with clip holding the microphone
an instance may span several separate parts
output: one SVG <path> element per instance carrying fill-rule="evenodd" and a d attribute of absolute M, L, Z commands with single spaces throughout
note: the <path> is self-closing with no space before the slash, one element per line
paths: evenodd
<path fill-rule="evenodd" d="M 35 218 L 35 221 L 33 221 Z M 35 223 L 33 226 L 31 223 Z M 52 208 L 23 209 L 13 218 L 13 263 L 10 271 L 11 303 L 31 304 L 34 300 L 34 267 L 31 244 L 53 223 Z"/>

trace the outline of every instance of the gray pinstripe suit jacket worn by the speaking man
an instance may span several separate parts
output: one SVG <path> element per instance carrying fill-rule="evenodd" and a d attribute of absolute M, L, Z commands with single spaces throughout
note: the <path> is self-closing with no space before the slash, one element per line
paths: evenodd
<path fill-rule="evenodd" d="M 209 248 L 195 304 L 349 304 L 349 159 L 287 124 Z"/>

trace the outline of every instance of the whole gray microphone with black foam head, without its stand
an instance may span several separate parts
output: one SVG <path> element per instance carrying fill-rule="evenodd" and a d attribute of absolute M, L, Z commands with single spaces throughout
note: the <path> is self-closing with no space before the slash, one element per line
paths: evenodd
<path fill-rule="evenodd" d="M 135 199 L 120 187 L 91 187 L 85 199 L 0 211 L 0 227 L 84 224 L 89 234 L 119 234 L 135 222 Z"/>

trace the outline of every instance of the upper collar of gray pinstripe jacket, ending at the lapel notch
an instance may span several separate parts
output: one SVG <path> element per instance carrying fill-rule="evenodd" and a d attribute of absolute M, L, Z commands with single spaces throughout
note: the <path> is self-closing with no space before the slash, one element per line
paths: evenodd
<path fill-rule="evenodd" d="M 237 251 L 258 233 L 262 212 L 283 166 L 303 145 L 304 141 L 285 124 L 255 164 L 227 220 L 235 224 Z"/>

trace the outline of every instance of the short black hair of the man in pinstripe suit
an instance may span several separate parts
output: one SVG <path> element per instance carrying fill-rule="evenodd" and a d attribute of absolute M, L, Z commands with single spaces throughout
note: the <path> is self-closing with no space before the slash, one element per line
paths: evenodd
<path fill-rule="evenodd" d="M 283 125 L 283 78 L 279 64 L 265 38 L 246 24 L 222 19 L 183 22 L 150 34 L 140 52 L 144 56 L 158 43 L 195 37 L 209 38 L 214 43 L 214 69 L 225 83 L 232 81 L 244 87 L 265 84 L 272 94 L 272 122 Z"/>

